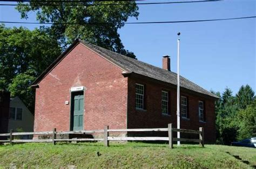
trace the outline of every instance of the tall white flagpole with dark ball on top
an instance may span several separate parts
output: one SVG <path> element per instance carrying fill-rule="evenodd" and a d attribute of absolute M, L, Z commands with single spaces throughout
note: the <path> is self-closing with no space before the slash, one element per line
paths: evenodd
<path fill-rule="evenodd" d="M 180 90 L 179 90 L 179 62 L 180 62 L 180 32 L 178 35 L 178 56 L 177 56 L 177 129 L 180 129 Z M 177 132 L 177 138 L 180 138 L 180 132 Z M 177 145 L 180 146 L 180 141 L 177 141 Z"/>

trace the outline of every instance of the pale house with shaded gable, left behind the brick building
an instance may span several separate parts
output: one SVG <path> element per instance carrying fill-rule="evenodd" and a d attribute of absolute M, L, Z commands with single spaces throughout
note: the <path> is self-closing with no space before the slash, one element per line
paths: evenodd
<path fill-rule="evenodd" d="M 8 132 L 32 132 L 34 125 L 34 116 L 18 97 L 11 98 L 9 111 Z M 32 135 L 31 135 L 32 137 Z M 28 139 L 23 136 L 22 139 Z"/>

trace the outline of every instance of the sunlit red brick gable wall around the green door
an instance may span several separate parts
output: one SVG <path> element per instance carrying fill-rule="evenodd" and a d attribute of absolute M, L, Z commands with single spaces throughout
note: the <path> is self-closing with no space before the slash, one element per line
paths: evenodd
<path fill-rule="evenodd" d="M 84 129 L 125 129 L 127 78 L 122 70 L 78 44 L 36 89 L 35 131 L 70 130 L 70 88 L 85 86 Z"/>

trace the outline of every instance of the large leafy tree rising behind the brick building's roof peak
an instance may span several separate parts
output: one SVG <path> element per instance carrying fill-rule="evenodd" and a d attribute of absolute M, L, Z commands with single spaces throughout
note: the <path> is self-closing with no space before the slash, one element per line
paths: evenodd
<path fill-rule="evenodd" d="M 44 5 L 46 3 L 47 6 Z M 75 3 L 78 5 L 74 5 Z M 106 5 L 112 3 L 117 5 Z M 138 17 L 138 6 L 135 2 L 83 1 L 59 3 L 31 1 L 29 4 L 29 6 L 17 6 L 16 9 L 21 13 L 21 17 L 28 18 L 28 12 L 33 11 L 36 12 L 39 22 L 52 22 L 49 32 L 57 37 L 64 48 L 76 38 L 80 38 L 86 42 L 135 58 L 134 53 L 124 49 L 118 33 L 118 29 L 124 26 L 124 22 L 129 17 Z"/>

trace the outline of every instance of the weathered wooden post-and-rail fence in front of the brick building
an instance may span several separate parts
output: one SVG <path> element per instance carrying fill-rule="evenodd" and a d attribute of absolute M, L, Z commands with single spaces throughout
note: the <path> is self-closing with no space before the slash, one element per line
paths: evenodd
<path fill-rule="evenodd" d="M 168 137 L 110 137 L 110 132 L 152 132 L 152 131 L 164 131 L 168 132 Z M 186 139 L 186 138 L 173 138 L 173 132 L 180 133 L 192 133 L 198 134 L 198 139 Z M 94 133 L 104 133 L 103 138 L 73 138 L 73 139 L 57 139 L 57 134 L 94 134 Z M 22 135 L 50 135 L 52 139 L 14 139 L 14 136 L 22 136 Z M 0 140 L 0 143 L 48 143 L 52 142 L 53 145 L 56 144 L 57 141 L 104 141 L 105 146 L 109 146 L 109 141 L 123 141 L 123 140 L 132 140 L 132 141 L 158 141 L 164 140 L 169 141 L 170 148 L 173 148 L 173 141 L 184 141 L 184 142 L 196 142 L 204 147 L 204 129 L 203 127 L 199 127 L 199 131 L 197 130 L 187 130 L 187 129 L 176 129 L 172 127 L 172 124 L 168 125 L 168 128 L 157 128 L 157 129 L 109 129 L 109 126 L 105 126 L 104 130 L 81 130 L 81 131 L 65 131 L 65 132 L 57 132 L 56 129 L 52 131 L 42 131 L 42 132 L 12 132 L 0 134 L 1 136 L 10 137 L 9 140 Z"/>

